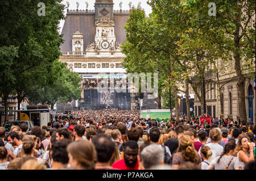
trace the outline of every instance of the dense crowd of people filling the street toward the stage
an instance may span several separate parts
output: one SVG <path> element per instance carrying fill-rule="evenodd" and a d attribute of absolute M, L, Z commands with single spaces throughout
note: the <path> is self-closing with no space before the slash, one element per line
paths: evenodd
<path fill-rule="evenodd" d="M 73 111 L 47 126 L 0 127 L 3 170 L 255 170 L 255 124 L 139 111 Z"/>

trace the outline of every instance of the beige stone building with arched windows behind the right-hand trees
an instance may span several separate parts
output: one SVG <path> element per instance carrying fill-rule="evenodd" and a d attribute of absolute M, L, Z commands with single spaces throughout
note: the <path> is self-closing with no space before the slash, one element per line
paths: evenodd
<path fill-rule="evenodd" d="M 240 121 L 240 110 L 239 110 L 239 94 L 237 86 L 236 70 L 234 64 L 228 62 L 225 66 L 225 73 L 221 71 L 220 74 L 220 87 L 222 86 L 221 92 L 217 87 L 217 77 L 211 71 L 206 70 L 205 74 L 205 100 L 207 105 L 207 113 L 212 117 L 220 118 L 221 114 L 221 99 L 220 94 L 223 96 L 224 103 L 224 118 L 230 117 L 234 121 Z M 229 73 L 226 73 L 229 72 Z M 254 70 L 255 73 L 255 70 Z M 245 102 L 246 102 L 246 115 L 247 119 L 251 119 L 255 123 L 255 89 L 253 89 L 255 78 L 250 78 L 249 74 L 245 75 Z M 194 82 L 197 82 L 194 79 Z M 192 89 L 192 87 L 191 87 Z M 200 94 L 200 87 L 197 87 L 197 91 Z M 200 94 L 201 96 L 201 94 Z M 195 115 L 202 115 L 200 100 L 195 94 Z"/>

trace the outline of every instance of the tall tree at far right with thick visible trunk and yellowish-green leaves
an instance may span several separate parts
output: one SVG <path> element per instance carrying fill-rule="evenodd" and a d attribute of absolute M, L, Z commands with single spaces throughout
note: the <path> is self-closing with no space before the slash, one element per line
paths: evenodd
<path fill-rule="evenodd" d="M 208 1 L 183 0 L 192 15 L 193 26 L 200 27 L 217 51 L 225 51 L 234 62 L 241 120 L 246 120 L 245 76 L 255 77 L 255 1 L 213 1 L 216 16 L 209 16 Z M 221 58 L 221 57 L 216 57 Z"/>

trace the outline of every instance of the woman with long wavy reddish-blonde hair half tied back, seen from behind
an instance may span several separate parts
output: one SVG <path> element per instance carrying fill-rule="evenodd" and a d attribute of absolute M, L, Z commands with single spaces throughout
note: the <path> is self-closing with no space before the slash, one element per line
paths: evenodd
<path fill-rule="evenodd" d="M 172 167 L 179 169 L 184 162 L 196 163 L 201 167 L 200 155 L 195 150 L 191 137 L 187 134 L 179 137 L 179 147 L 172 159 Z"/>

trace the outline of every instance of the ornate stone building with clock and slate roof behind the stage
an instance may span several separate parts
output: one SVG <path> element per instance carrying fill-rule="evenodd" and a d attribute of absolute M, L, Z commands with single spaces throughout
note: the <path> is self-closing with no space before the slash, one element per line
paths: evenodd
<path fill-rule="evenodd" d="M 59 61 L 67 62 L 68 68 L 82 77 L 80 104 L 86 103 L 85 90 L 95 89 L 93 86 L 84 85 L 96 85 L 99 79 L 97 76 L 126 76 L 126 70 L 122 68 L 125 54 L 121 52 L 121 44 L 126 41 L 124 26 L 130 12 L 113 10 L 113 5 L 113 0 L 96 0 L 94 10 L 79 10 L 79 5 L 77 10 L 67 10 L 61 32 L 64 43 L 61 45 L 62 56 Z M 132 110 L 138 102 L 135 100 L 137 94 L 133 90 L 129 100 L 122 100 L 125 103 L 130 102 L 129 108 Z"/>

